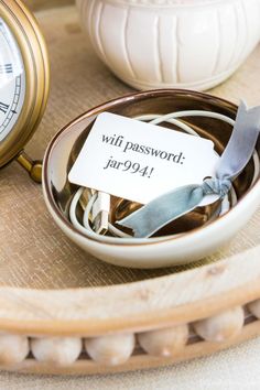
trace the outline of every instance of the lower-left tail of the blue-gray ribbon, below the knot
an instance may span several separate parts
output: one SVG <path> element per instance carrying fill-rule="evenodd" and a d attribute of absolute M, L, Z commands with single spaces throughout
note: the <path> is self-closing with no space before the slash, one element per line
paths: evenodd
<path fill-rule="evenodd" d="M 203 197 L 203 186 L 183 186 L 156 197 L 117 224 L 132 229 L 137 238 L 148 238 L 170 221 L 193 210 Z"/>

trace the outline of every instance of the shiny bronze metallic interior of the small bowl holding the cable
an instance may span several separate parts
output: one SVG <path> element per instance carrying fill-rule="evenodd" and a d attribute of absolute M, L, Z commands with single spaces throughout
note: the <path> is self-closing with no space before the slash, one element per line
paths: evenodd
<path fill-rule="evenodd" d="M 56 213 L 59 217 L 62 216 L 66 220 L 69 220 L 68 208 L 77 186 L 68 182 L 67 174 L 91 130 L 96 116 L 101 111 L 110 111 L 134 118 L 147 113 L 165 115 L 181 110 L 206 110 L 219 112 L 235 119 L 236 109 L 236 106 L 205 94 L 183 90 L 158 90 L 123 97 L 88 111 L 65 128 L 51 145 L 51 153 L 45 163 L 46 185 L 52 194 Z M 201 137 L 210 139 L 219 154 L 224 151 L 231 134 L 232 129 L 230 124 L 206 117 L 187 117 L 184 118 L 184 121 L 196 130 Z M 174 124 L 163 124 L 170 129 L 176 129 Z M 251 159 L 234 183 L 238 201 L 250 188 L 253 172 L 253 162 Z M 214 219 L 213 216 L 218 206 L 219 203 L 216 202 L 210 206 L 196 208 L 177 221 L 169 224 L 159 231 L 158 236 L 185 232 L 203 227 Z M 112 197 L 111 218 L 113 220 L 120 219 L 130 209 L 136 209 L 137 207 L 139 207 L 138 204 Z"/>

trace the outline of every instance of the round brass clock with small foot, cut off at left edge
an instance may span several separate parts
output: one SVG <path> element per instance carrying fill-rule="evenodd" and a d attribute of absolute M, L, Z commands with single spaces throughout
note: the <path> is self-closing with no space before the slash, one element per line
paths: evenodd
<path fill-rule="evenodd" d="M 35 181 L 41 164 L 23 152 L 42 118 L 48 95 L 46 46 L 20 0 L 0 0 L 0 167 L 17 159 Z"/>

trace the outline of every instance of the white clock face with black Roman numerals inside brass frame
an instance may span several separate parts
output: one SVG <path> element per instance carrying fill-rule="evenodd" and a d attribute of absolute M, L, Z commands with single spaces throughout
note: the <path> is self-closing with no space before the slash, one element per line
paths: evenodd
<path fill-rule="evenodd" d="M 25 96 L 25 69 L 15 39 L 0 18 L 0 142 L 11 132 Z"/>

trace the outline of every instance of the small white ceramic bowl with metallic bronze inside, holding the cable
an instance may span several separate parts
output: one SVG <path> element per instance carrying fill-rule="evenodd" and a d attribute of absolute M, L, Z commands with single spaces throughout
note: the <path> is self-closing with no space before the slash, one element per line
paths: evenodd
<path fill-rule="evenodd" d="M 96 116 L 110 111 L 127 117 L 144 113 L 169 113 L 176 110 L 201 109 L 236 117 L 237 107 L 226 100 L 209 95 L 174 89 L 138 93 L 94 108 L 64 128 L 50 143 L 43 165 L 43 191 L 46 205 L 56 224 L 65 235 L 78 246 L 104 261 L 133 268 L 160 268 L 184 264 L 201 259 L 223 245 L 242 228 L 260 204 L 260 180 L 251 187 L 253 177 L 252 160 L 234 183 L 238 203 L 227 214 L 210 220 L 201 218 L 210 210 L 195 210 L 182 221 L 181 235 L 172 235 L 173 226 L 161 237 L 143 243 L 121 243 L 120 239 L 109 238 L 108 242 L 89 239 L 76 228 L 68 218 L 68 208 L 77 186 L 71 184 L 67 174 L 75 162 Z M 186 118 L 188 126 L 201 136 L 212 139 L 215 149 L 221 153 L 227 144 L 231 127 L 212 118 Z M 174 126 L 172 126 L 174 129 Z M 258 143 L 260 153 L 260 142 Z M 113 205 L 122 199 L 113 199 Z M 174 225 L 175 226 L 175 225 Z M 182 227 L 185 227 L 182 229 Z M 180 227 L 178 227 L 180 228 Z M 166 235 L 166 236 L 165 236 Z"/>

